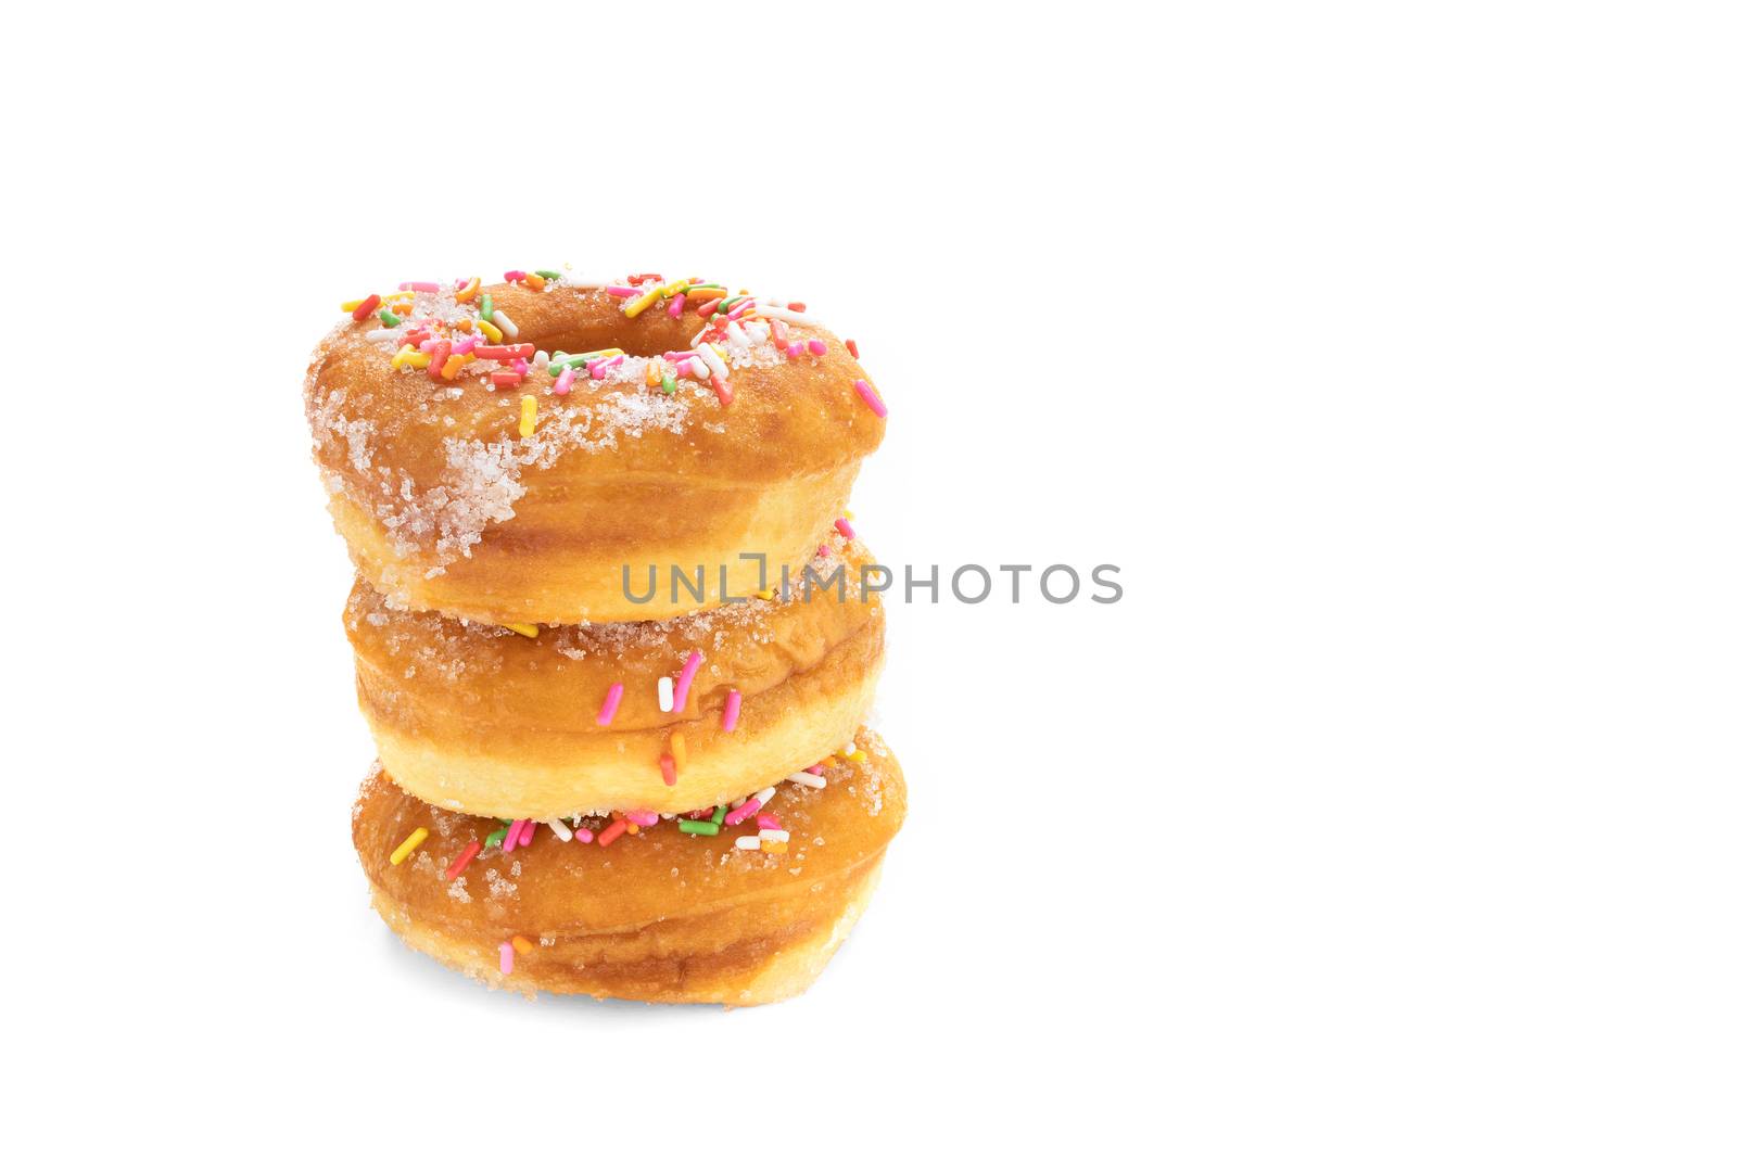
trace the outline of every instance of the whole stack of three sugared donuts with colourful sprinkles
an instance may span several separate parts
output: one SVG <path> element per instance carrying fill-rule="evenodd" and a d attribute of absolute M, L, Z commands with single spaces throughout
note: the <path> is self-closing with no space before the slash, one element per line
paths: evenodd
<path fill-rule="evenodd" d="M 353 837 L 488 984 L 801 993 L 905 814 L 844 502 L 886 408 L 797 302 L 565 271 L 344 306 L 306 403 L 379 762 Z"/>

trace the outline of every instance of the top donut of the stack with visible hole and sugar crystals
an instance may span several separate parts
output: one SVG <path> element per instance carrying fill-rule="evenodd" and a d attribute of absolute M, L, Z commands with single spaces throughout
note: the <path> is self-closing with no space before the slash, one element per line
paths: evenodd
<path fill-rule="evenodd" d="M 476 623 L 615 623 L 808 559 L 884 429 L 851 347 L 716 283 L 544 273 L 346 302 L 314 351 L 314 460 L 363 578 Z"/>

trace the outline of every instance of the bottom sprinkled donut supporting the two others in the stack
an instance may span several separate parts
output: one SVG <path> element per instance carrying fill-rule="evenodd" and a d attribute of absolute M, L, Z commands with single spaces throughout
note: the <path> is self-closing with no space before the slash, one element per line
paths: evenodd
<path fill-rule="evenodd" d="M 867 729 L 794 776 L 705 816 L 570 826 L 448 813 L 377 767 L 351 835 L 386 924 L 490 986 L 764 1005 L 820 976 L 905 819 L 898 760 Z"/>

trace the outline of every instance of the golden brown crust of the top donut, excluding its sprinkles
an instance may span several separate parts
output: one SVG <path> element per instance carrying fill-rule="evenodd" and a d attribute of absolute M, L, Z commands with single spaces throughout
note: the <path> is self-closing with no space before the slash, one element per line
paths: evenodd
<path fill-rule="evenodd" d="M 625 318 L 601 290 L 488 286 L 540 351 L 684 351 L 703 328 L 691 311 Z M 419 309 L 474 321 L 452 295 Z M 806 559 L 841 514 L 862 458 L 884 429 L 856 394 L 867 378 L 834 335 L 794 323 L 823 356 L 785 358 L 768 344 L 730 347 L 733 401 L 683 378 L 648 391 L 643 363 L 604 380 L 580 375 L 566 396 L 532 373 L 492 392 L 474 363 L 452 382 L 391 366 L 398 344 L 370 342 L 379 319 L 346 323 L 316 351 L 306 405 L 332 514 L 358 569 L 417 609 L 486 623 L 631 622 L 716 606 L 683 594 L 639 606 L 622 568 L 742 566 Z M 410 332 L 410 325 L 401 326 Z M 521 398 L 538 403 L 519 436 Z M 714 582 L 716 587 L 716 582 Z"/>

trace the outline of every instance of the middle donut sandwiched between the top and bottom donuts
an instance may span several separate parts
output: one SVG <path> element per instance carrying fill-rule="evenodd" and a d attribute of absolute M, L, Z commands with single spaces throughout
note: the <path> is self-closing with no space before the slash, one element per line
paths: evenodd
<path fill-rule="evenodd" d="M 535 637 L 396 609 L 358 580 L 344 623 L 380 762 L 472 816 L 684 813 L 752 793 L 844 748 L 874 701 L 872 557 L 842 536 L 822 550 L 787 590 Z"/>

